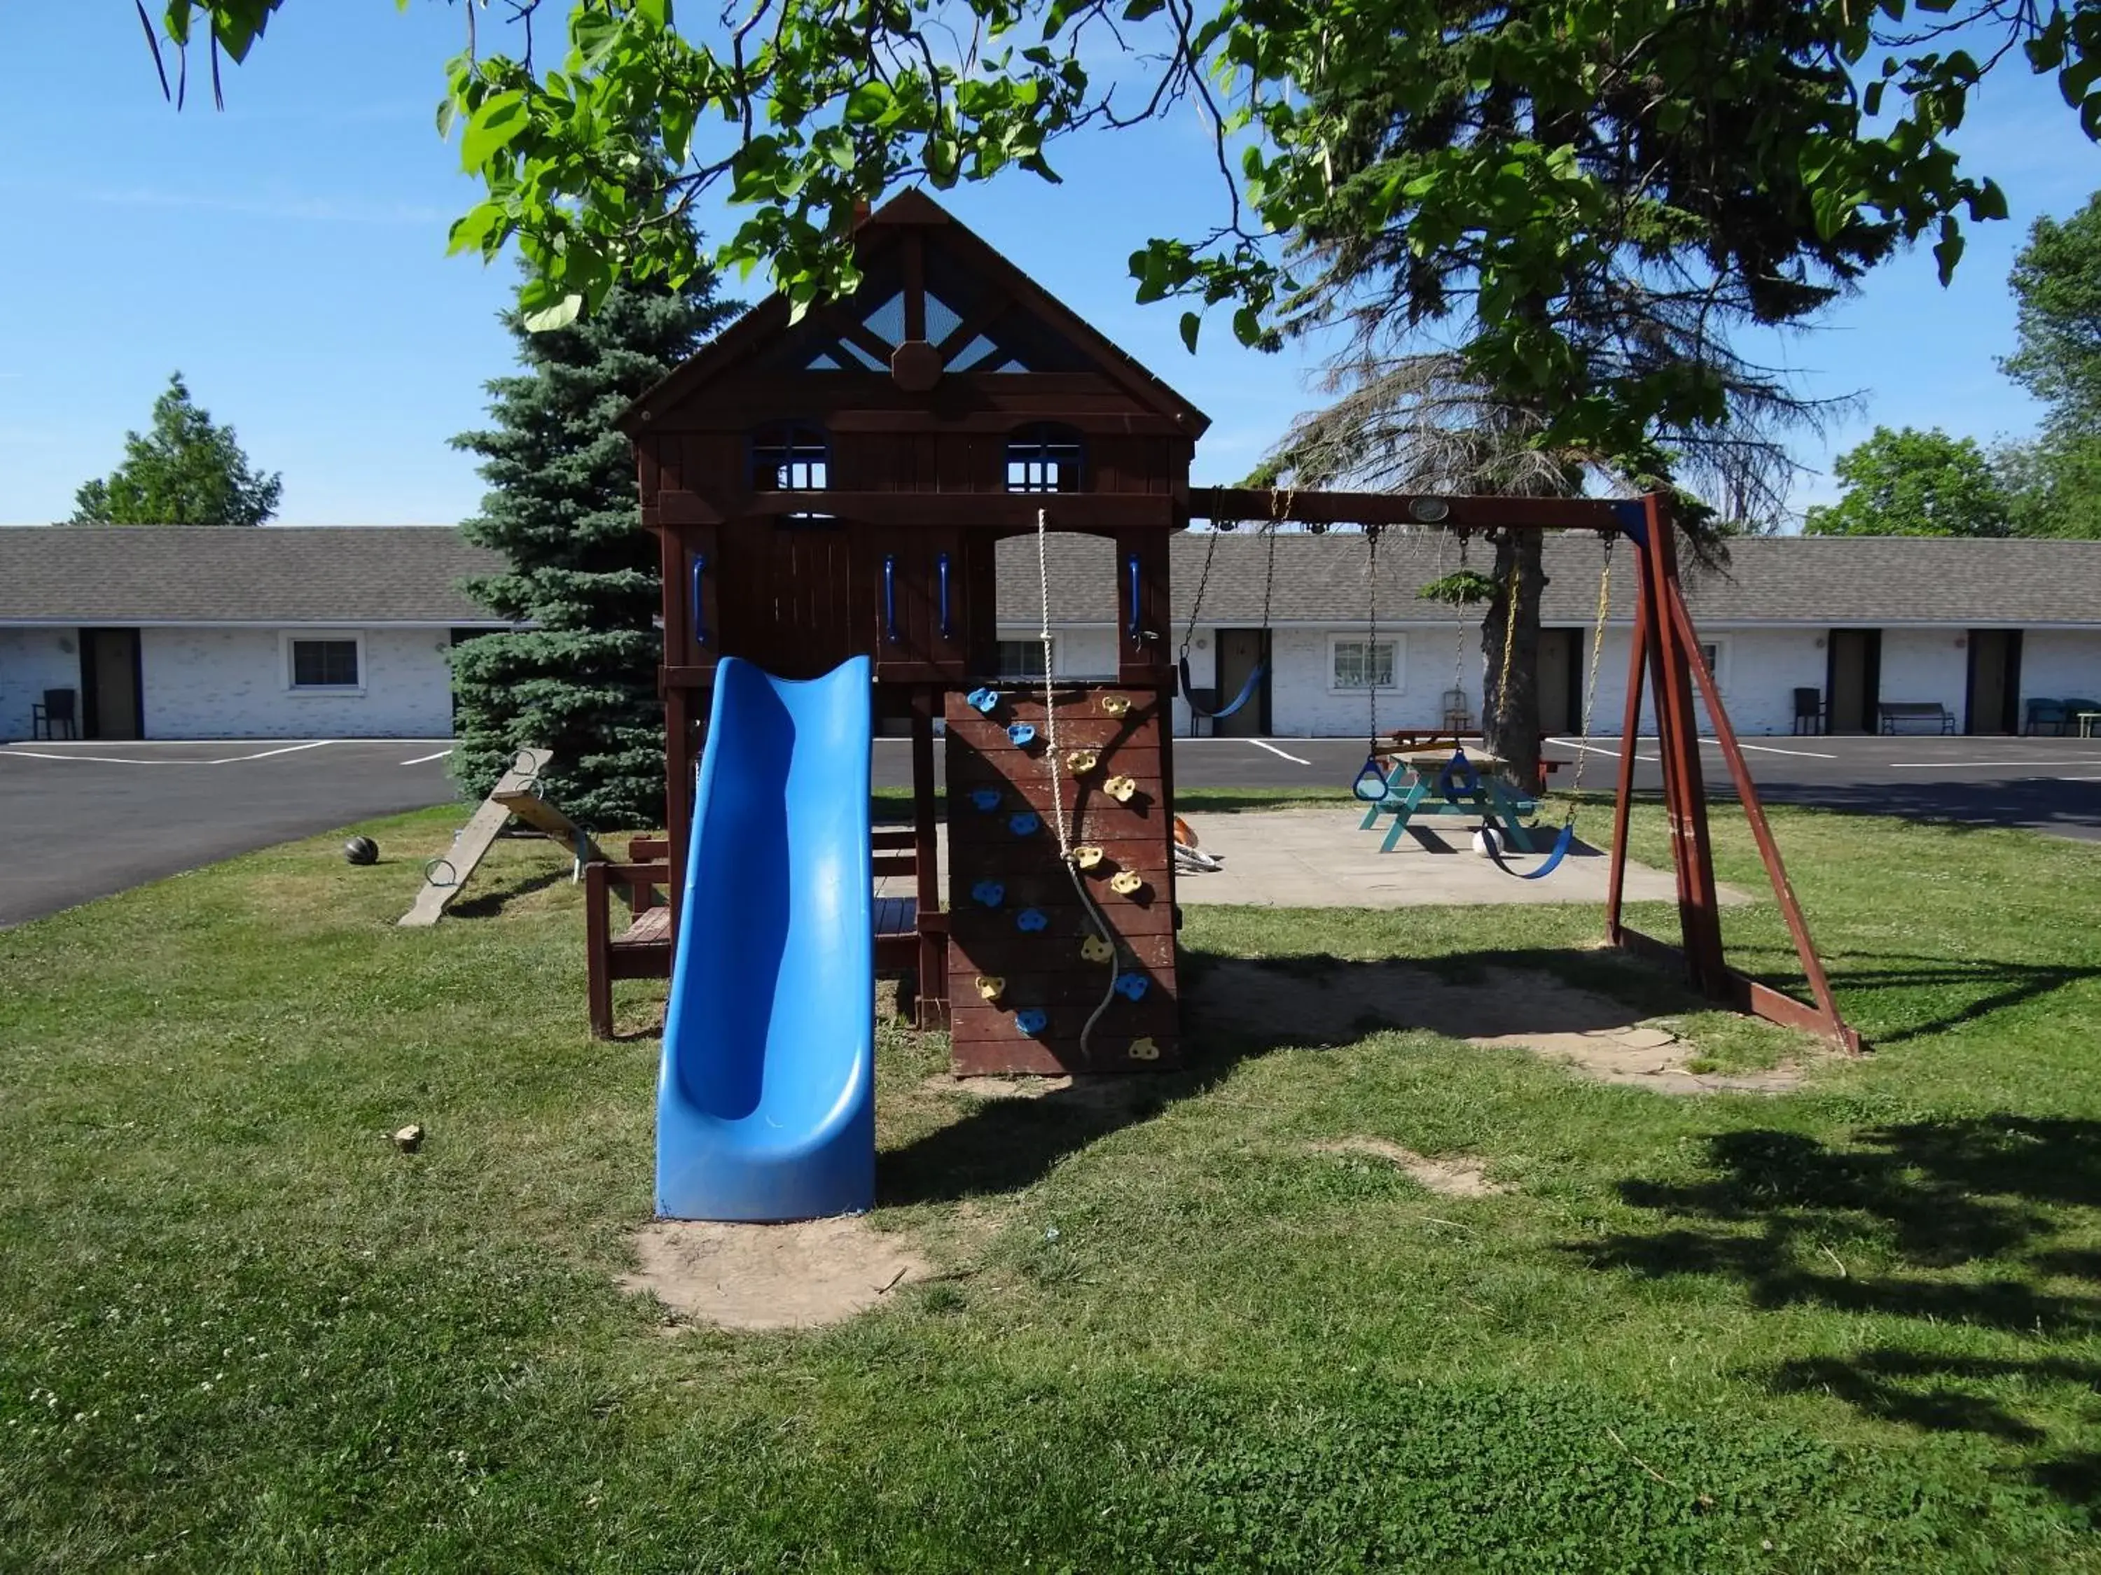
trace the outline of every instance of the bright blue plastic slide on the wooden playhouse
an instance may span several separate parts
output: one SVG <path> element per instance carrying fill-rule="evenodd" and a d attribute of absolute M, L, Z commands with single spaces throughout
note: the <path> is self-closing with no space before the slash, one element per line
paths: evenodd
<path fill-rule="evenodd" d="M 658 1075 L 658 1216 L 811 1220 L 876 1199 L 868 657 L 723 657 Z"/>

